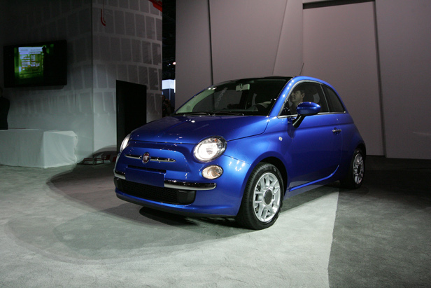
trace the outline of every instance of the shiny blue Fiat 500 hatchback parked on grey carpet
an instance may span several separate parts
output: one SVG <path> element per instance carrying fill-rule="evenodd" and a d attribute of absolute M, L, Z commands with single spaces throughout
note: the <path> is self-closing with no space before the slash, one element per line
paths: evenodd
<path fill-rule="evenodd" d="M 226 81 L 128 135 L 118 198 L 267 228 L 283 200 L 334 181 L 358 188 L 365 142 L 336 90 L 316 78 Z"/>

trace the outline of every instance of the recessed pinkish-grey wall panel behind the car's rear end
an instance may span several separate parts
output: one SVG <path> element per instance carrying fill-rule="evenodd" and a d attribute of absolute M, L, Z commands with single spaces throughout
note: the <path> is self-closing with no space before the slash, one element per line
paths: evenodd
<path fill-rule="evenodd" d="M 341 95 L 367 144 L 383 155 L 374 4 L 304 10 L 304 71 Z"/>

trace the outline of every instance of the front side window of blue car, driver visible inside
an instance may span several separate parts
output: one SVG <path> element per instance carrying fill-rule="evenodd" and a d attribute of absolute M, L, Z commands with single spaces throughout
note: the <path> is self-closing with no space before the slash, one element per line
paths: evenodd
<path fill-rule="evenodd" d="M 299 83 L 292 91 L 285 102 L 281 116 L 296 115 L 296 107 L 301 102 L 314 102 L 320 105 L 321 113 L 328 112 L 328 106 L 323 94 L 323 90 L 318 83 Z"/>

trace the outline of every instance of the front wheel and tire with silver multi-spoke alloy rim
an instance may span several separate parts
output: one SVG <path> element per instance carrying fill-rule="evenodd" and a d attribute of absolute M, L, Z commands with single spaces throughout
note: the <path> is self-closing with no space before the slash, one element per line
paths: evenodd
<path fill-rule="evenodd" d="M 248 178 L 236 221 L 254 230 L 272 226 L 283 205 L 283 192 L 278 169 L 269 163 L 259 163 Z"/>

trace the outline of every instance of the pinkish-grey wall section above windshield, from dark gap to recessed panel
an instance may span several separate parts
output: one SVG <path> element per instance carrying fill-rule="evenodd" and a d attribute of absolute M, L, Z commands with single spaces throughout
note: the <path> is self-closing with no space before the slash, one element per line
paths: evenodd
<path fill-rule="evenodd" d="M 213 82 L 301 69 L 301 0 L 177 0 L 176 11 L 176 108 Z"/>

